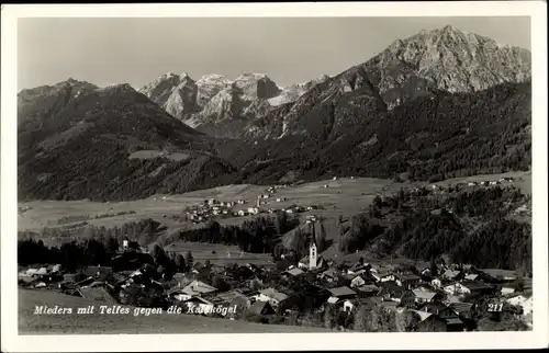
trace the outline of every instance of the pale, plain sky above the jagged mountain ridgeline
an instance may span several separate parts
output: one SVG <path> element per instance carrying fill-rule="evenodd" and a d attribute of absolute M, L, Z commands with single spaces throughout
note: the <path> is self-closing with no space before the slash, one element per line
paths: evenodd
<path fill-rule="evenodd" d="M 287 86 L 446 24 L 530 49 L 529 18 L 20 19 L 19 89 L 69 77 L 139 88 L 167 72 L 259 72 Z"/>

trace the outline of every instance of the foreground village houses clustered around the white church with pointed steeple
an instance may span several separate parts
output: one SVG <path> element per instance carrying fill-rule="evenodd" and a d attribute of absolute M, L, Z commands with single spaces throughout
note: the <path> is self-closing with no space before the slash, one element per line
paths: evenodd
<path fill-rule="evenodd" d="M 126 249 L 124 244 L 112 267 L 88 266 L 78 273 L 66 273 L 60 265 L 31 267 L 20 272 L 20 284 L 120 304 L 132 304 L 130 297 L 137 287 L 155 298 L 138 301 L 141 305 L 169 303 L 186 307 L 187 312 L 217 316 L 222 312 L 221 316 L 232 319 L 284 317 L 300 310 L 323 312 L 327 306 L 345 316 L 359 307 L 380 307 L 412 312 L 426 330 L 438 327 L 445 331 L 466 330 L 474 309 L 474 296 L 490 295 L 520 307 L 524 320 L 531 322 L 531 294 L 516 285 L 516 276 L 495 278 L 471 265 L 444 262 L 436 269 L 419 270 L 369 264 L 362 259 L 354 264 L 336 264 L 318 253 L 314 236 L 309 254 L 285 270 L 198 262 L 186 273 L 165 276 L 150 254 Z M 304 285 L 295 289 L 291 284 L 296 282 Z M 216 311 L 216 307 L 235 309 Z"/>

